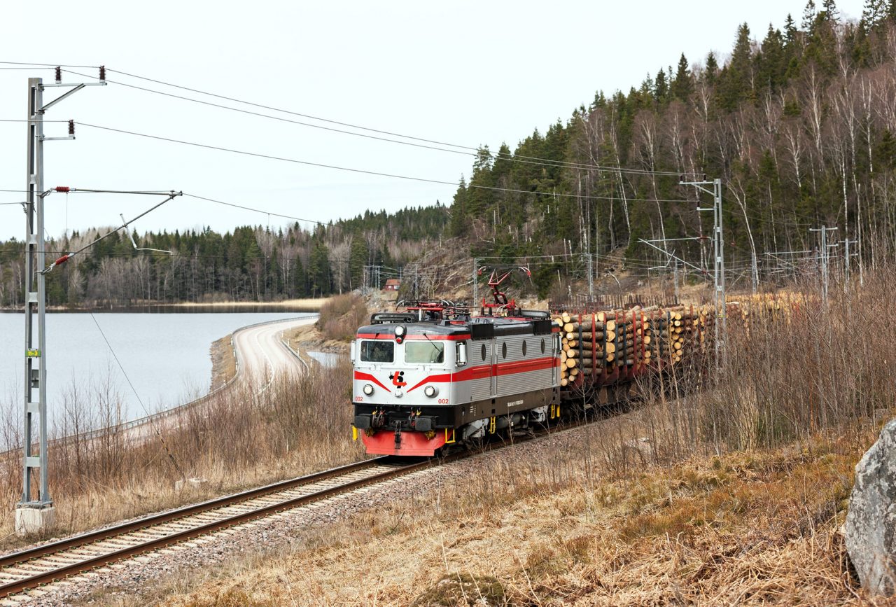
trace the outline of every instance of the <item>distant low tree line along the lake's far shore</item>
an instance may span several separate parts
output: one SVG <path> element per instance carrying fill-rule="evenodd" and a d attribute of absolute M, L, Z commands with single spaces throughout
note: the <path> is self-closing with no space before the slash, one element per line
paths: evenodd
<path fill-rule="evenodd" d="M 365 266 L 402 264 L 423 247 L 417 234 L 447 225 L 441 204 L 276 232 L 244 226 L 103 238 L 46 274 L 51 306 L 122 306 L 147 302 L 276 301 L 322 297 L 364 285 Z M 73 232 L 47 241 L 47 263 L 114 230 Z M 394 238 L 399 235 L 399 238 Z M 137 251 L 151 247 L 162 252 Z M 23 305 L 22 242 L 0 243 L 0 306 Z M 165 252 L 168 251 L 168 252 Z M 374 286 L 370 284 L 369 286 Z"/>

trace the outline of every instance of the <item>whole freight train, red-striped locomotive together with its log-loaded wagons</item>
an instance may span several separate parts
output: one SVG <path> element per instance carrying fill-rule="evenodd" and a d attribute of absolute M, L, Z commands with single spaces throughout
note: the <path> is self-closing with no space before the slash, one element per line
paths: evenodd
<path fill-rule="evenodd" d="M 528 273 L 526 268 L 521 268 Z M 478 316 L 450 301 L 412 301 L 358 328 L 352 433 L 369 454 L 445 447 L 630 400 L 636 378 L 705 365 L 707 308 L 636 307 L 558 315 L 522 310 L 492 273 Z M 685 357 L 685 358 L 683 358 Z M 680 376 L 678 376 L 680 377 Z M 676 386 L 681 386 L 676 382 Z"/>

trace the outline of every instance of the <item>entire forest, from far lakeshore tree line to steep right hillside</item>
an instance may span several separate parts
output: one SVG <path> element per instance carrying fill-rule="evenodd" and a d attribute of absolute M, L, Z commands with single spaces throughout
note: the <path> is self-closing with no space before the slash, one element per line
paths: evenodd
<path fill-rule="evenodd" d="M 598 275 L 621 256 L 635 275 L 667 263 L 639 238 L 694 238 L 669 248 L 706 267 L 711 216 L 695 207 L 709 197 L 679 185 L 681 176 L 722 179 L 726 255 L 742 286 L 780 276 L 775 252 L 803 252 L 814 263 L 817 233 L 809 230 L 823 225 L 838 228 L 834 241 L 854 240 L 866 268 L 891 263 L 896 0 L 867 0 L 858 22 L 843 20 L 834 0 L 810 0 L 799 22 L 788 15 L 761 39 L 742 25 L 724 60 L 709 53 L 692 64 L 682 55 L 627 93 L 598 91 L 588 107 L 513 151 L 482 147 L 449 207 L 366 212 L 311 231 L 296 224 L 139 238 L 173 256 L 108 238 L 47 274 L 48 298 L 62 305 L 314 297 L 361 286 L 366 264 L 423 264 L 433 242 L 444 244 L 441 263 L 531 258 L 531 290 L 540 296 L 581 278 L 586 256 L 597 260 Z M 96 233 L 47 248 L 70 250 Z M 0 243 L 0 305 L 22 303 L 22 273 L 22 243 Z"/>

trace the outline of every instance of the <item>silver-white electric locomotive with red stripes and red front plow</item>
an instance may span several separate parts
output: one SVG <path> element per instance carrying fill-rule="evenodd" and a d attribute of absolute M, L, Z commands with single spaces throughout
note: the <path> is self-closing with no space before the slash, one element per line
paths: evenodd
<path fill-rule="evenodd" d="M 352 432 L 367 453 L 435 455 L 558 414 L 561 342 L 547 312 L 513 302 L 504 317 L 448 301 L 406 309 L 375 313 L 351 343 Z"/>

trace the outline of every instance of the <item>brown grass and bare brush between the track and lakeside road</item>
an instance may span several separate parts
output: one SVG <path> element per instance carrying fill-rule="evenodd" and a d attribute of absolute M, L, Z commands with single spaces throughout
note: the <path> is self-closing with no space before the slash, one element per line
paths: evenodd
<path fill-rule="evenodd" d="M 279 378 L 256 396 L 257 386 L 225 390 L 185 413 L 178 428 L 155 426 L 157 433 L 134 445 L 123 433 L 66 440 L 50 450 L 50 490 L 57 510 L 54 535 L 142 516 L 362 458 L 348 433 L 350 366 L 311 369 Z M 333 377 L 344 377 L 333 381 Z M 120 420 L 119 399 L 106 384 L 73 386 L 56 433 L 77 435 Z M 2 438 L 9 446 L 18 425 L 4 415 Z M 194 486 L 175 482 L 199 478 Z M 22 545 L 13 536 L 13 504 L 20 499 L 21 460 L 0 462 L 0 550 Z"/>

